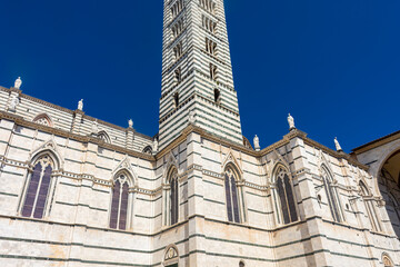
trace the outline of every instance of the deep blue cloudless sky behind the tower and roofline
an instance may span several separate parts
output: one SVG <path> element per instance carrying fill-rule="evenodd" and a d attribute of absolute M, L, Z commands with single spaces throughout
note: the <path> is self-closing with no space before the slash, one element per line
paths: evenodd
<path fill-rule="evenodd" d="M 158 131 L 162 0 L 0 1 L 0 86 Z M 350 149 L 399 130 L 400 1 L 227 0 L 242 131 Z"/>

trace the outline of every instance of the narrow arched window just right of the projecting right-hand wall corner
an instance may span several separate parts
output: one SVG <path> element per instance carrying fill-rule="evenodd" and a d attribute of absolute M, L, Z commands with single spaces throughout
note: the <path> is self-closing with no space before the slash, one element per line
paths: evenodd
<path fill-rule="evenodd" d="M 336 187 L 333 186 L 333 178 L 326 167 L 322 167 L 322 181 L 326 189 L 328 205 L 334 221 L 342 221 L 342 212 L 339 202 L 339 196 Z"/>

